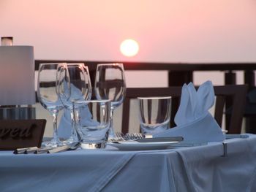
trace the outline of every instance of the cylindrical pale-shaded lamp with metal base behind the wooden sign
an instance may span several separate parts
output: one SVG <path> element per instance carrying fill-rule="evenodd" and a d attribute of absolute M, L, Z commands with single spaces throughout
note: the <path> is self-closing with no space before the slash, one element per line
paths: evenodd
<path fill-rule="evenodd" d="M 1 37 L 0 119 L 35 118 L 34 48 L 12 46 L 12 37 Z"/>

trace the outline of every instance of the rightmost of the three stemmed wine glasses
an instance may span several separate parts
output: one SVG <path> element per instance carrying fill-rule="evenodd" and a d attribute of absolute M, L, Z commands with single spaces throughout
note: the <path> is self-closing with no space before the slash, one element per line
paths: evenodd
<path fill-rule="evenodd" d="M 94 91 L 97 99 L 110 100 L 110 131 L 109 139 L 116 135 L 113 130 L 113 111 L 124 101 L 126 83 L 123 64 L 98 64 Z"/>

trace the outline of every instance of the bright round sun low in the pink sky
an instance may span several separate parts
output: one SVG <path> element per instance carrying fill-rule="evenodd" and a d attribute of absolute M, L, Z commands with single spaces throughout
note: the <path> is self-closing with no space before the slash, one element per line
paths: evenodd
<path fill-rule="evenodd" d="M 124 56 L 133 57 L 139 52 L 139 45 L 134 39 L 125 39 L 121 42 L 120 51 Z"/>

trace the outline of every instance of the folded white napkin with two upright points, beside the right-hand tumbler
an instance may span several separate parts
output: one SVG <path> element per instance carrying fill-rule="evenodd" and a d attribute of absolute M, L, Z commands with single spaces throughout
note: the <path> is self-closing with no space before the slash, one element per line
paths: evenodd
<path fill-rule="evenodd" d="M 190 82 L 184 84 L 181 104 L 175 116 L 176 127 L 170 128 L 153 137 L 182 136 L 186 142 L 220 142 L 225 139 L 222 129 L 208 112 L 214 104 L 214 87 L 206 81 L 195 90 Z"/>

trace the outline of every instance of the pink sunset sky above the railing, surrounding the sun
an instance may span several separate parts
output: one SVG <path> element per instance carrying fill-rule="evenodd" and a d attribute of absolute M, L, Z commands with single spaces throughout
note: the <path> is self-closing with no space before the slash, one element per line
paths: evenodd
<path fill-rule="evenodd" d="M 1 0 L 0 36 L 37 59 L 256 61 L 254 0 Z M 135 39 L 127 58 L 119 47 Z"/>

